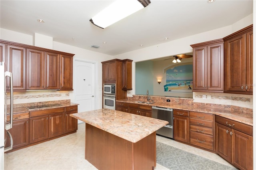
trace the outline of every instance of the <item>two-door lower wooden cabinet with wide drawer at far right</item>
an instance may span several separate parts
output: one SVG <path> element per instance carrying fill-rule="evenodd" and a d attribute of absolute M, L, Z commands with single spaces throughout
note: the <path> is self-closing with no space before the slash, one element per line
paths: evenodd
<path fill-rule="evenodd" d="M 240 170 L 252 170 L 252 126 L 217 115 L 215 121 L 216 153 Z"/>

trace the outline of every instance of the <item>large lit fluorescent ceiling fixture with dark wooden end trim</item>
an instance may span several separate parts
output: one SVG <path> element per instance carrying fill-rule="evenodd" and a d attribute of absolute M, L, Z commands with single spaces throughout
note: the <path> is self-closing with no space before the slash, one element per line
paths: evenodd
<path fill-rule="evenodd" d="M 96 16 L 92 17 L 90 22 L 100 28 L 106 28 L 134 12 L 145 8 L 150 3 L 150 0 L 116 0 Z"/>

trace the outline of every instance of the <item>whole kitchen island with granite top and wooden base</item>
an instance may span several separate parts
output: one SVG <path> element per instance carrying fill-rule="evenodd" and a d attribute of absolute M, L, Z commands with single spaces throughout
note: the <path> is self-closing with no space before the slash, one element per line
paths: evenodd
<path fill-rule="evenodd" d="M 70 116 L 86 123 L 85 159 L 99 170 L 156 166 L 156 130 L 167 121 L 110 109 Z"/>

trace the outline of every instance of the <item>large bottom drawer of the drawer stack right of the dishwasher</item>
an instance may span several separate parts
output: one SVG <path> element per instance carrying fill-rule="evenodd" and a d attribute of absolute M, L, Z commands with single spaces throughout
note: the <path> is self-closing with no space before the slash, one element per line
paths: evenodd
<path fill-rule="evenodd" d="M 213 150 L 213 136 L 190 131 L 190 144 Z"/>

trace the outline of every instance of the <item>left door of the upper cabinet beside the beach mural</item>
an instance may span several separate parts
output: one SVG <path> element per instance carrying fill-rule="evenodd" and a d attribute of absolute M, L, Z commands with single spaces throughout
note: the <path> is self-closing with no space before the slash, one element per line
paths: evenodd
<path fill-rule="evenodd" d="M 193 48 L 193 89 L 207 88 L 207 47 Z"/>

